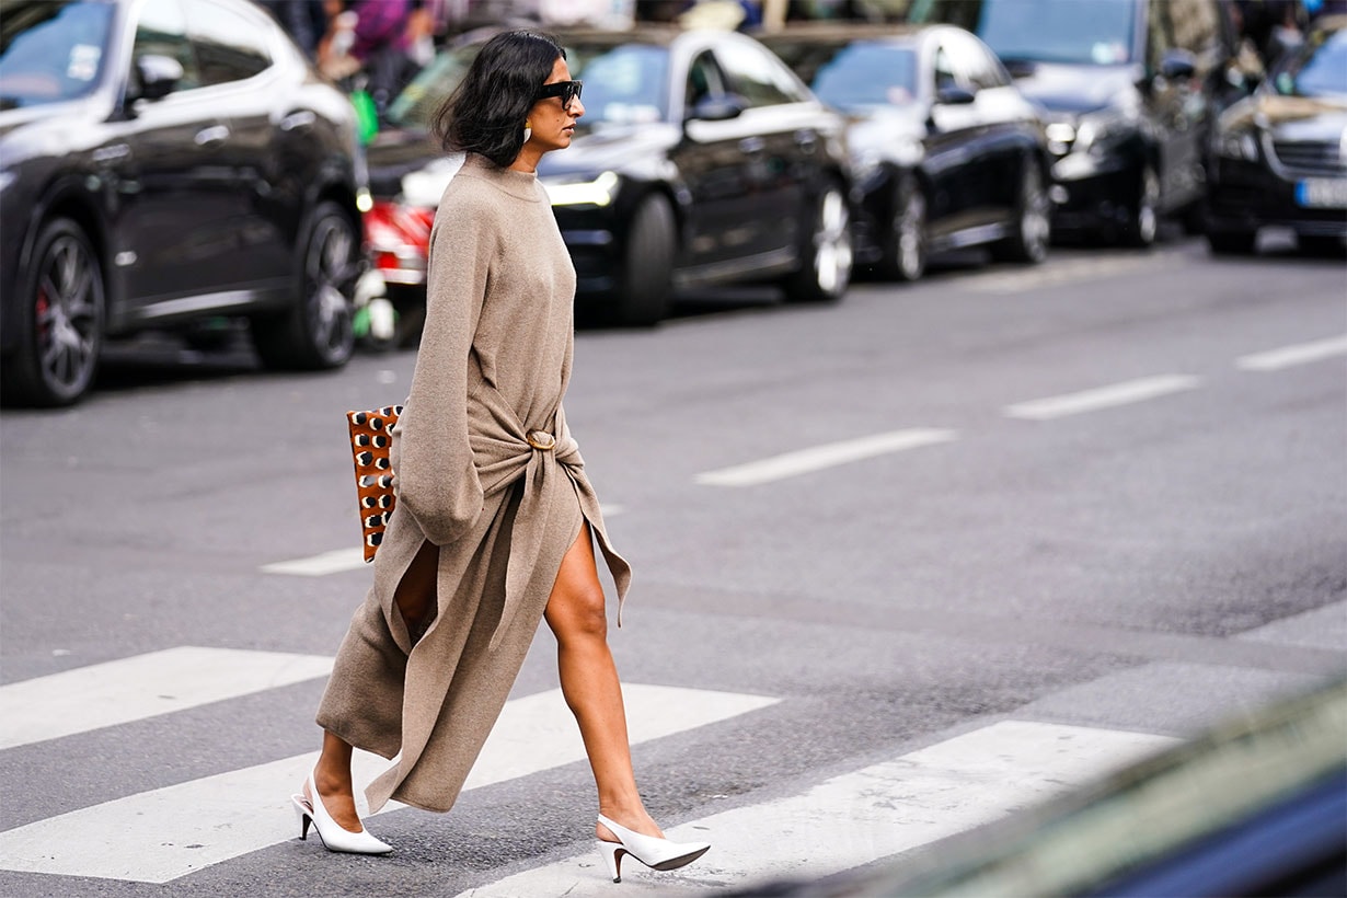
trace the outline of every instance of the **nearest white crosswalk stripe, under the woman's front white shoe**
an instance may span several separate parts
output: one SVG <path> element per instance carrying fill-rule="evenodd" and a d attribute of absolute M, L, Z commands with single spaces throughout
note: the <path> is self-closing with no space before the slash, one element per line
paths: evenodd
<path fill-rule="evenodd" d="M 815 878 L 974 829 L 1068 792 L 1177 742 L 1052 723 L 1001 723 L 834 777 L 807 792 L 665 831 L 711 851 L 669 872 L 622 862 L 618 889 L 711 894 L 768 879 Z M 458 898 L 612 897 L 593 850 L 506 876 Z"/>

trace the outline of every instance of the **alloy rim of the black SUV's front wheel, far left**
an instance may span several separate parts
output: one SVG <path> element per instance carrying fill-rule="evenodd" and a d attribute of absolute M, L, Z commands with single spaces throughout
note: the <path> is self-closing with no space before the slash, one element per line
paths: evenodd
<path fill-rule="evenodd" d="M 51 244 L 38 276 L 34 335 L 42 378 L 65 390 L 93 376 L 98 349 L 100 283 L 93 258 L 73 236 Z"/>

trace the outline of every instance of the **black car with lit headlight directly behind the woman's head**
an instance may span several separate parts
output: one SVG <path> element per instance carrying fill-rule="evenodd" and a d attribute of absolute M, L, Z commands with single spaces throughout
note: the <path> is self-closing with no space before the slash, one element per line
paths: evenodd
<path fill-rule="evenodd" d="M 422 71 L 368 148 L 369 240 L 391 281 L 424 269 L 424 213 L 454 171 L 430 148 L 427 125 L 489 34 Z M 780 283 L 796 302 L 843 295 L 843 121 L 780 59 L 726 31 L 554 34 L 585 82 L 585 116 L 537 174 L 575 264 L 578 311 L 653 324 L 675 287 L 744 281 Z"/>

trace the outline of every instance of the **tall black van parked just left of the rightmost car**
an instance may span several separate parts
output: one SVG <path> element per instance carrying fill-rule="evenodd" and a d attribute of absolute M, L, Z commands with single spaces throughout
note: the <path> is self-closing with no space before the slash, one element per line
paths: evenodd
<path fill-rule="evenodd" d="M 1134 246 L 1200 222 L 1204 151 L 1234 48 L 1219 0 L 915 0 L 982 38 L 1051 116 L 1055 233 Z"/>

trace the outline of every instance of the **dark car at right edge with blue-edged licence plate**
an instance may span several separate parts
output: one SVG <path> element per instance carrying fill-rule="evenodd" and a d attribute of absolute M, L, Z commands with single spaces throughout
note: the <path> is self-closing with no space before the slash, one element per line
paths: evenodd
<path fill-rule="evenodd" d="M 1211 140 L 1207 241 L 1251 253 L 1263 225 L 1296 232 L 1303 249 L 1340 252 L 1347 238 L 1347 16 L 1324 19 Z"/>

